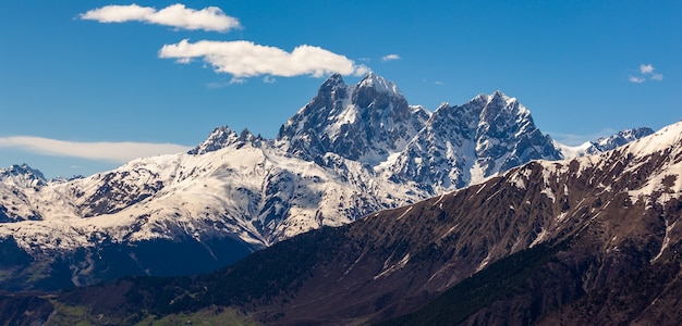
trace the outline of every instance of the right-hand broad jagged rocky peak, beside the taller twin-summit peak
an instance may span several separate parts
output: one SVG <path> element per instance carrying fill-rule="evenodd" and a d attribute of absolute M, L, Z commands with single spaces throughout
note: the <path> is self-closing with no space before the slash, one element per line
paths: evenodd
<path fill-rule="evenodd" d="M 532 160 L 561 153 L 516 99 L 497 91 L 461 106 L 442 104 L 390 167 L 390 177 L 431 195 L 462 188 Z"/>

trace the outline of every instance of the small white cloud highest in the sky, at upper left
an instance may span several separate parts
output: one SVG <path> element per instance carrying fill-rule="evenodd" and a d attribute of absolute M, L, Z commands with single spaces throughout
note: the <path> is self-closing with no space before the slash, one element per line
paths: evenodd
<path fill-rule="evenodd" d="M 226 15 L 220 8 L 194 10 L 181 3 L 161 10 L 137 4 L 106 5 L 81 14 L 80 18 L 100 23 L 144 22 L 190 30 L 228 32 L 241 27 L 239 20 Z"/>

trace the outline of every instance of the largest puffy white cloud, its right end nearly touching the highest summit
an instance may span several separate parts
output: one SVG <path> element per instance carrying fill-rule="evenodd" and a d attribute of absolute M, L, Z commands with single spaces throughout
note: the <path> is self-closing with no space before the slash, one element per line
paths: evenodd
<path fill-rule="evenodd" d="M 217 73 L 233 75 L 236 79 L 259 75 L 292 77 L 326 74 L 364 75 L 369 70 L 357 65 L 344 55 L 319 47 L 299 46 L 287 52 L 276 47 L 260 46 L 252 41 L 200 40 L 191 43 L 187 39 L 174 45 L 165 45 L 159 58 L 188 60 L 203 58 Z"/>

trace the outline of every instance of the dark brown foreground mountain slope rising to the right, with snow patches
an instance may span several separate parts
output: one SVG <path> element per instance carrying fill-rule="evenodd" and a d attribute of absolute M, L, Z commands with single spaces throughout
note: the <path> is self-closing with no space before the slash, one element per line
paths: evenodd
<path fill-rule="evenodd" d="M 680 325 L 682 122 L 217 272 L 0 296 L 13 324 Z"/>

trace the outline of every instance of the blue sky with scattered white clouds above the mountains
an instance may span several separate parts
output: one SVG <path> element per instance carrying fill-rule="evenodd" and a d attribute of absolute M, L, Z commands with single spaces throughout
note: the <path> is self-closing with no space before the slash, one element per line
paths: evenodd
<path fill-rule="evenodd" d="M 89 175 L 273 138 L 332 72 L 435 110 L 502 90 L 577 145 L 682 118 L 682 1 L 3 1 L 0 167 Z"/>

